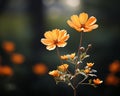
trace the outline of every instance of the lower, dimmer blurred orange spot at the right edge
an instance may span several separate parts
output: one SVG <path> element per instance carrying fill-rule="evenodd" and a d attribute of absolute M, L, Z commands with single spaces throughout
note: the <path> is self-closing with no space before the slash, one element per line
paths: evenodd
<path fill-rule="evenodd" d="M 116 86 L 120 83 L 120 78 L 114 75 L 108 75 L 105 80 L 106 85 L 113 85 Z"/>

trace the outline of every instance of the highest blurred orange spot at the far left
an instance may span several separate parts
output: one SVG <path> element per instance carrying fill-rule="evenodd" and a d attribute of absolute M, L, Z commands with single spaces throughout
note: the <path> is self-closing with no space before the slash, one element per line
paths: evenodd
<path fill-rule="evenodd" d="M 15 50 L 15 44 L 13 42 L 11 42 L 11 41 L 4 41 L 2 43 L 2 48 L 6 52 L 10 53 L 10 52 L 13 52 Z"/>

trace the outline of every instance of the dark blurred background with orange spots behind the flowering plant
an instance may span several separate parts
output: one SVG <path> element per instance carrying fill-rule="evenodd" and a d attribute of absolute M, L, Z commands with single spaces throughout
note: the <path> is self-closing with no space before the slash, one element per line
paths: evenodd
<path fill-rule="evenodd" d="M 79 33 L 66 21 L 80 12 L 95 16 L 99 24 L 83 34 L 83 46 L 92 44 L 88 62 L 95 63 L 103 84 L 80 86 L 77 96 L 120 96 L 119 8 L 118 0 L 0 0 L 0 96 L 73 96 L 70 87 L 56 85 L 48 75 L 59 60 L 40 39 L 45 31 L 66 29 L 71 37 L 60 52 L 76 52 Z"/>

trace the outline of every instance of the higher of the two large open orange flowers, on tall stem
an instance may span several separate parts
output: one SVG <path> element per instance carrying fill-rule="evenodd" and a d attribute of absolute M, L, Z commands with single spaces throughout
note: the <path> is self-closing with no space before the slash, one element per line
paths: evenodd
<path fill-rule="evenodd" d="M 97 19 L 94 16 L 88 19 L 87 13 L 81 13 L 79 16 L 71 16 L 71 20 L 68 20 L 67 24 L 78 32 L 90 32 L 98 27 L 98 25 L 95 24 L 96 21 Z"/>

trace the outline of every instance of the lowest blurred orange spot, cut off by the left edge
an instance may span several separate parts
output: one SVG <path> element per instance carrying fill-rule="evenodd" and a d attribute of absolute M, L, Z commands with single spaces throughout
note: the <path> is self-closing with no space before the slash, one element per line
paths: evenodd
<path fill-rule="evenodd" d="M 13 70 L 9 66 L 0 66 L 0 74 L 6 75 L 6 76 L 12 76 Z"/>

